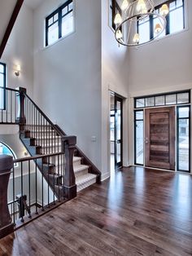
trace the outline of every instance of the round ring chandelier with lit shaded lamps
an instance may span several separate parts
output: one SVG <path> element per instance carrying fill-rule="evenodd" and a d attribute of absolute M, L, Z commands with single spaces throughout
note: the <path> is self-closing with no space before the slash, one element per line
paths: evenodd
<path fill-rule="evenodd" d="M 129 2 L 130 1 L 130 2 Z M 155 10 L 153 0 L 123 0 L 120 13 L 116 14 L 114 23 L 116 24 L 116 41 L 123 46 L 140 46 L 158 38 L 166 28 L 166 18 L 168 15 L 168 6 L 163 4 L 159 10 Z M 152 35 L 149 31 L 149 37 L 146 33 L 140 33 L 140 25 L 147 24 L 152 20 Z"/>

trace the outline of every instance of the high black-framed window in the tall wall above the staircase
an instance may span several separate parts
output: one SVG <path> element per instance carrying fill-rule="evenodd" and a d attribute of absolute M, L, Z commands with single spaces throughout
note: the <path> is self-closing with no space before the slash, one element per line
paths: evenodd
<path fill-rule="evenodd" d="M 74 31 L 73 2 L 68 0 L 46 17 L 46 46 Z"/>

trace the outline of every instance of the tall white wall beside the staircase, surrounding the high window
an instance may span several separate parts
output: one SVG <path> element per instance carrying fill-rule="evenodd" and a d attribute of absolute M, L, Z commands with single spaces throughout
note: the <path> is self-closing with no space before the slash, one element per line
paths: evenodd
<path fill-rule="evenodd" d="M 34 99 L 101 166 L 101 5 L 75 1 L 76 31 L 44 49 L 44 21 L 63 1 L 34 11 Z M 96 136 L 92 142 L 91 137 Z"/>

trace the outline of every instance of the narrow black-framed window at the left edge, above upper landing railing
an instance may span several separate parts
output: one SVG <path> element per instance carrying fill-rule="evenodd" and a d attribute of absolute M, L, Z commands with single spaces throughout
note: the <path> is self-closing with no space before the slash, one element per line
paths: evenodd
<path fill-rule="evenodd" d="M 6 108 L 6 64 L 0 62 L 0 109 Z"/>

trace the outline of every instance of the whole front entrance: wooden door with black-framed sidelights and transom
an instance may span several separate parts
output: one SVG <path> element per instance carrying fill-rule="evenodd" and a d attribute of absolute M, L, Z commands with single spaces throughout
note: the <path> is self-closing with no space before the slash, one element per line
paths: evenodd
<path fill-rule="evenodd" d="M 190 90 L 134 99 L 134 164 L 190 172 Z"/>

